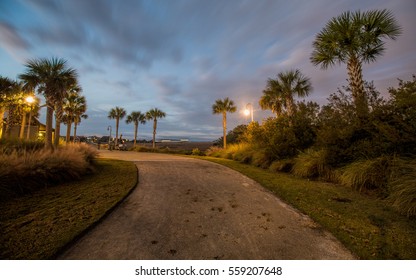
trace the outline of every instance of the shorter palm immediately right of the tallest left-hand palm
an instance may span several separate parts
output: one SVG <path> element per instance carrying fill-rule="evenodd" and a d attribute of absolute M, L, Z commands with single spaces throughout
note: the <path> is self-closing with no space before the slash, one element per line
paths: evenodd
<path fill-rule="evenodd" d="M 66 143 L 70 142 L 72 124 L 78 124 L 79 122 L 77 123 L 77 121 L 80 120 L 81 117 L 86 116 L 84 114 L 87 111 L 85 96 L 80 95 L 78 89 L 79 88 L 77 88 L 77 90 L 74 89 L 74 91 L 69 93 L 63 104 L 63 121 L 66 124 Z M 76 133 L 76 129 L 74 129 L 74 133 Z M 74 135 L 74 140 L 75 137 L 76 135 Z"/>

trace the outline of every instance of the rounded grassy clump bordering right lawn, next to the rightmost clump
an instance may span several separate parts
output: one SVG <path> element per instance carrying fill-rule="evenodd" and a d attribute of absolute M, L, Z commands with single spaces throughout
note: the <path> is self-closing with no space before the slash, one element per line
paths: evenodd
<path fill-rule="evenodd" d="M 376 189 L 386 194 L 391 166 L 392 159 L 389 157 L 356 161 L 343 168 L 340 180 L 357 191 Z"/>

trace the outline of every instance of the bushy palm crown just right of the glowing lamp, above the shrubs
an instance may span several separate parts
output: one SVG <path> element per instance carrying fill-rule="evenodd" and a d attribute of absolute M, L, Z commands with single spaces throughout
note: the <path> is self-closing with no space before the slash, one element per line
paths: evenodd
<path fill-rule="evenodd" d="M 312 90 L 309 78 L 305 77 L 299 69 L 281 72 L 276 80 L 268 79 L 266 89 L 260 99 L 260 107 L 270 109 L 277 116 L 286 111 L 288 116 L 295 112 L 294 95 L 305 97 Z"/>

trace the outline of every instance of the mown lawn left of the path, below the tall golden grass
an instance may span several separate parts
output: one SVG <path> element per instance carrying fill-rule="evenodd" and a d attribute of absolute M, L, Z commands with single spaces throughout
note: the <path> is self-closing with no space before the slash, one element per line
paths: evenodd
<path fill-rule="evenodd" d="M 137 184 L 134 163 L 98 159 L 81 180 L 0 203 L 0 259 L 50 259 Z"/>

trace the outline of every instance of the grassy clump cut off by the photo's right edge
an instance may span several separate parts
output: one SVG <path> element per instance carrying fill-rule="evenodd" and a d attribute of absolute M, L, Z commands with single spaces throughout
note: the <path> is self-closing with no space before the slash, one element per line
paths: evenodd
<path fill-rule="evenodd" d="M 396 161 L 388 200 L 401 214 L 416 216 L 416 160 Z"/>

